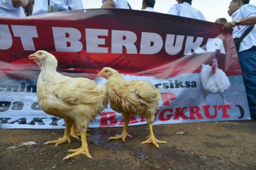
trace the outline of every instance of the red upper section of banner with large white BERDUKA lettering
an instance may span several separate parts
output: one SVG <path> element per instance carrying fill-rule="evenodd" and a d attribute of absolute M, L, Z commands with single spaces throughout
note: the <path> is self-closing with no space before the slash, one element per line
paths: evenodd
<path fill-rule="evenodd" d="M 228 76 L 241 75 L 232 35 L 221 27 L 125 9 L 0 17 L 0 70 L 11 76 L 39 71 L 27 56 L 46 50 L 57 58 L 58 71 L 69 73 L 95 74 L 108 65 L 124 74 L 166 78 L 199 73 L 201 63 L 210 64 L 216 54 L 219 68 Z"/>

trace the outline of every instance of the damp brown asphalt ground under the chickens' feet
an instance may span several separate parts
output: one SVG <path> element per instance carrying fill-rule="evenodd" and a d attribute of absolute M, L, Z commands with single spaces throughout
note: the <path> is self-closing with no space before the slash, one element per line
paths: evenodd
<path fill-rule="evenodd" d="M 63 161 L 71 143 L 43 145 L 63 136 L 64 129 L 0 129 L 0 170 L 255 170 L 256 121 L 182 123 L 153 126 L 155 137 L 167 141 L 140 144 L 147 125 L 128 127 L 126 142 L 108 140 L 122 127 L 90 128 L 87 138 L 92 159 L 79 155 Z M 18 146 L 22 142 L 37 144 Z"/>

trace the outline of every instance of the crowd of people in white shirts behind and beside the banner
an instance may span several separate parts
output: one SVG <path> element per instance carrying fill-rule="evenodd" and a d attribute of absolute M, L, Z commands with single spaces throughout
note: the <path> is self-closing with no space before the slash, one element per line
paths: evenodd
<path fill-rule="evenodd" d="M 189 17 L 206 21 L 201 11 L 192 8 L 192 0 L 176 0 L 167 14 Z M 231 0 L 229 16 L 217 18 L 216 23 L 223 24 L 223 30 L 229 33 L 233 29 L 240 67 L 247 92 L 250 114 L 256 118 L 256 6 L 250 0 Z M 142 10 L 159 12 L 154 9 L 155 0 L 141 0 Z M 101 8 L 132 9 L 127 0 L 102 0 Z M 0 17 L 27 17 L 50 12 L 83 9 L 81 0 L 0 0 Z"/>

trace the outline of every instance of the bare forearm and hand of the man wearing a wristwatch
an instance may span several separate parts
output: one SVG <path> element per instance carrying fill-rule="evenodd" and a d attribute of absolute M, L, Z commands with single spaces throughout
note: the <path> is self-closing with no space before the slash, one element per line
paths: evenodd
<path fill-rule="evenodd" d="M 247 17 L 244 19 L 240 19 L 240 23 L 241 23 L 241 26 L 256 25 L 256 17 Z M 237 26 L 236 23 L 234 21 L 232 21 L 232 22 L 228 22 L 228 23 L 224 24 L 222 29 L 224 29 L 226 33 L 229 33 L 231 31 L 231 29 L 234 28 L 235 26 Z"/>

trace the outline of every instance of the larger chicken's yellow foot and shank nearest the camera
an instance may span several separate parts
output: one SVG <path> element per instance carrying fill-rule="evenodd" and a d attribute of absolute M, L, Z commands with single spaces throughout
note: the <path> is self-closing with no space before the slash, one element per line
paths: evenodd
<path fill-rule="evenodd" d="M 64 160 L 68 160 L 69 158 L 73 158 L 77 155 L 80 154 L 85 154 L 88 158 L 91 158 L 91 155 L 89 153 L 89 149 L 88 149 L 88 144 L 87 144 L 87 139 L 86 139 L 86 129 L 82 130 L 81 132 L 81 141 L 82 141 L 82 146 L 78 149 L 70 149 L 67 152 L 73 152 L 72 154 L 67 155 Z"/>

